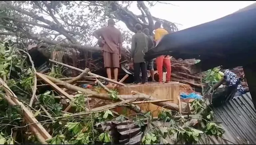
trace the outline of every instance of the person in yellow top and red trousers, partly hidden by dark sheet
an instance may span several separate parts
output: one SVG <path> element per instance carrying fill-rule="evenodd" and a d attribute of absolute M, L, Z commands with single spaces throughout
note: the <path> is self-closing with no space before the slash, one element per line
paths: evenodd
<path fill-rule="evenodd" d="M 160 41 L 160 39 L 164 36 L 168 34 L 168 31 L 166 31 L 165 29 L 161 28 L 161 23 L 160 22 L 156 22 L 155 23 L 155 40 L 156 40 L 156 45 L 158 44 L 158 42 Z M 170 61 L 170 56 L 164 56 L 161 55 L 159 57 L 156 57 L 156 69 L 158 71 L 158 75 L 159 75 L 159 82 L 162 83 L 163 82 L 163 65 L 166 67 L 167 70 L 167 74 L 166 74 L 166 83 L 170 82 L 171 80 L 171 61 Z"/>

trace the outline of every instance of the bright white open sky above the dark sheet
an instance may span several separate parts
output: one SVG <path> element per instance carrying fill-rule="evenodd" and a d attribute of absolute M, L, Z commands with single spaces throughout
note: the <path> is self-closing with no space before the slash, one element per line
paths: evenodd
<path fill-rule="evenodd" d="M 152 16 L 170 22 L 182 24 L 178 28 L 186 29 L 199 24 L 222 18 L 238 11 L 255 1 L 164 1 L 168 4 L 156 4 L 149 8 Z M 135 14 L 141 14 L 136 3 L 129 9 Z M 125 27 L 124 24 L 118 23 Z"/>

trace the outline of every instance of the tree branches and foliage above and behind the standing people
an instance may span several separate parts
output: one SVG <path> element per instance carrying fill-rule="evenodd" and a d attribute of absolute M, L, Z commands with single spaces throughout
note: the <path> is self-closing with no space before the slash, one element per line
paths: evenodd
<path fill-rule="evenodd" d="M 141 14 L 129 10 L 136 2 Z M 13 35 L 30 43 L 47 43 L 60 47 L 100 50 L 92 42 L 92 33 L 106 26 L 106 19 L 122 21 L 134 32 L 134 25 L 153 31 L 155 21 L 172 32 L 177 26 L 151 15 L 148 6 L 158 1 L 2 1 L 0 2 L 0 35 Z M 167 3 L 166 3 L 167 4 Z M 148 6 L 147 6 L 148 5 Z M 128 31 L 122 31 L 125 40 Z"/>

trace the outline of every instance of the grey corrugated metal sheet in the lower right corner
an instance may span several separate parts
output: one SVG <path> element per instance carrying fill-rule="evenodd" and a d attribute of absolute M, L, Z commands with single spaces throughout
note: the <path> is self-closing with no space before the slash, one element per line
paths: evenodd
<path fill-rule="evenodd" d="M 212 110 L 215 120 L 222 122 L 220 126 L 226 131 L 224 139 L 202 137 L 199 144 L 256 144 L 256 112 L 250 93 L 235 96 L 226 104 Z"/>

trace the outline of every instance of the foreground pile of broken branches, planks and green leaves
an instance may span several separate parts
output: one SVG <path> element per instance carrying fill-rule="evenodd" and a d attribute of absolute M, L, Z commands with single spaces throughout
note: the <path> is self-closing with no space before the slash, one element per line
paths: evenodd
<path fill-rule="evenodd" d="M 113 82 L 114 87 L 126 86 L 122 82 L 127 76 L 116 82 L 87 67 L 79 69 L 76 65 L 59 62 L 65 61 L 58 59 L 57 55 L 70 57 L 69 53 L 52 53 L 51 59 L 42 57 L 42 60 L 37 60 L 38 56 L 33 56 L 32 51 L 18 49 L 15 43 L 1 42 L 0 45 L 0 118 L 5 124 L 0 128 L 0 143 L 149 144 L 160 143 L 166 135 L 174 137 L 175 143 L 196 143 L 204 132 L 217 136 L 224 133 L 211 121 L 212 113 L 202 100 L 183 102 L 182 105 L 178 96 L 178 104 L 174 104 L 144 92 L 118 94 L 115 89 L 107 88 L 104 81 Z M 43 60 L 46 58 L 47 62 Z M 188 74 L 186 67 L 182 67 L 188 63 L 173 59 L 174 74 Z M 72 74 L 76 72 L 77 75 L 64 75 L 66 68 L 74 70 Z M 184 74 L 176 79 L 181 82 L 186 77 L 193 78 Z M 193 81 L 198 83 L 198 80 Z M 98 86 L 92 87 L 94 85 Z M 100 93 L 99 87 L 107 93 Z M 181 88 L 192 92 L 187 84 Z M 162 107 L 158 117 L 153 117 L 154 110 L 145 112 L 137 105 L 145 103 Z M 119 106 L 136 113 L 115 112 L 113 109 Z M 154 120 L 169 122 L 164 133 L 158 127 L 146 129 Z M 198 123 L 201 127 L 195 126 Z M 214 131 L 211 133 L 210 130 Z"/>

